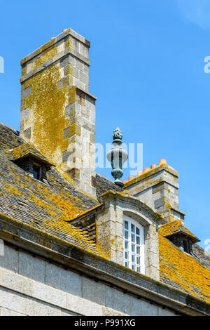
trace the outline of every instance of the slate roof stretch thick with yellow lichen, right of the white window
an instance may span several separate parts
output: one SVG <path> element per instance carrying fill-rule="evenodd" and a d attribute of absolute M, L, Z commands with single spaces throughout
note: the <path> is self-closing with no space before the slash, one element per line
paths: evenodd
<path fill-rule="evenodd" d="M 160 278 L 210 303 L 210 270 L 159 234 Z M 166 279 L 166 281 L 165 281 Z M 170 280 L 168 282 L 168 279 Z"/>

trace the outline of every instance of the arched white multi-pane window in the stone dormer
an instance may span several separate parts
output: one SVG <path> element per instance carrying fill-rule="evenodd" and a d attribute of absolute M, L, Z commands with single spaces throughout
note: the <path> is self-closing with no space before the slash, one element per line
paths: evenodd
<path fill-rule="evenodd" d="M 128 230 L 125 227 L 128 224 Z M 134 232 L 132 232 L 134 230 Z M 127 232 L 127 233 L 125 233 Z M 139 233 L 139 235 L 137 234 Z M 126 237 L 125 237 L 126 236 Z M 125 267 L 145 274 L 144 260 L 144 226 L 130 216 L 123 216 L 123 246 Z M 132 251 L 133 249 L 133 251 Z M 139 251 L 140 250 L 140 251 Z"/>

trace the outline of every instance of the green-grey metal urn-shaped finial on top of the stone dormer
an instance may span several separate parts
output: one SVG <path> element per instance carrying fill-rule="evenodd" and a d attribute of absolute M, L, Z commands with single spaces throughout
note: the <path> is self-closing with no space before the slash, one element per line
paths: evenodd
<path fill-rule="evenodd" d="M 120 187 L 123 187 L 124 183 L 120 181 L 123 176 L 123 164 L 127 161 L 127 151 L 123 150 L 121 145 L 123 134 L 120 128 L 116 128 L 113 131 L 113 147 L 107 153 L 106 157 L 111 162 L 111 167 L 113 171 L 111 175 L 115 179 L 114 183 Z"/>

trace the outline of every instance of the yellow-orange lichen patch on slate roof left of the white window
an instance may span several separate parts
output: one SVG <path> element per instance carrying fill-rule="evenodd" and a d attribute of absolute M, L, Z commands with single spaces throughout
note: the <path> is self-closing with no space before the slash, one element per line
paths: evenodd
<path fill-rule="evenodd" d="M 86 251 L 97 251 L 94 241 L 89 239 L 85 232 L 66 222 L 84 211 L 82 200 L 66 190 L 62 192 L 59 188 L 55 190 L 50 186 L 42 185 L 29 176 L 25 176 L 25 180 L 22 180 L 22 177 L 13 171 L 10 171 L 10 175 L 10 181 L 1 179 L 3 185 L 1 194 L 6 198 L 15 197 L 15 203 L 10 205 L 9 211 L 14 220 L 26 217 L 28 224 L 38 227 L 43 232 L 52 235 L 59 233 L 59 237 L 63 237 L 64 240 L 71 237 L 72 242 L 79 242 Z M 18 185 L 14 185 L 14 182 L 18 182 Z M 22 205 L 31 208 L 31 216 L 22 213 Z M 1 206 L 8 209 L 6 205 L 1 204 Z"/>

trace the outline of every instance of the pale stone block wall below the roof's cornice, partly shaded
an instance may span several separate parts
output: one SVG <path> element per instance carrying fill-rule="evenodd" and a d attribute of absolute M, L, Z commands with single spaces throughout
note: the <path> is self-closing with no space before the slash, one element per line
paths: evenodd
<path fill-rule="evenodd" d="M 90 277 L 5 246 L 0 315 L 176 315 Z"/>

